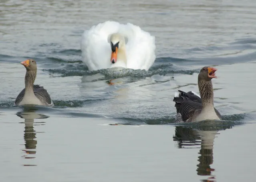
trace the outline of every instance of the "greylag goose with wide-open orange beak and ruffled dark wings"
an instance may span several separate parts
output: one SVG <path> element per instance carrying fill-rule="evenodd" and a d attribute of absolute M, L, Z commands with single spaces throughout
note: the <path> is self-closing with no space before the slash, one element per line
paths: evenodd
<path fill-rule="evenodd" d="M 201 98 L 193 91 L 175 92 L 173 101 L 177 110 L 176 123 L 220 120 L 221 115 L 214 108 L 212 78 L 217 78 L 214 67 L 203 67 L 198 75 L 198 88 Z"/>

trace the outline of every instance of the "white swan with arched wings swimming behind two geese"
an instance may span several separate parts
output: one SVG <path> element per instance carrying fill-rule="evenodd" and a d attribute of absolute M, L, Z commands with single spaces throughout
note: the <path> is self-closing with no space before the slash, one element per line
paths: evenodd
<path fill-rule="evenodd" d="M 107 21 L 93 26 L 83 33 L 80 47 L 89 70 L 148 70 L 155 61 L 155 37 L 130 23 Z"/>

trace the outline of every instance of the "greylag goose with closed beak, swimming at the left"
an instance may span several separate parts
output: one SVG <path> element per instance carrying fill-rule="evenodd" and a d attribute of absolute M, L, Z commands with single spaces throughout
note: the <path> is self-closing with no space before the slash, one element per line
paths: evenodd
<path fill-rule="evenodd" d="M 36 79 L 36 61 L 27 59 L 20 62 L 26 68 L 25 88 L 19 93 L 15 105 L 44 105 L 53 106 L 52 99 L 44 87 L 34 85 Z"/>

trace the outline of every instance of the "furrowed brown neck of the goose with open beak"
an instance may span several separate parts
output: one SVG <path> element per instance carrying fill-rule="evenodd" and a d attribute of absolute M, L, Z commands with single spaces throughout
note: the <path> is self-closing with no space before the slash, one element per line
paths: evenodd
<path fill-rule="evenodd" d="M 214 93 L 212 81 L 198 80 L 198 87 L 202 99 L 203 109 L 206 107 L 212 107 L 214 109 Z"/>

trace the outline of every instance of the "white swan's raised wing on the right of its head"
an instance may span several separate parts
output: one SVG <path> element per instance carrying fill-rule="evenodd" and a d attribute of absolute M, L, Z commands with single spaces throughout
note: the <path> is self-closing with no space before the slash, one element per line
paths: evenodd
<path fill-rule="evenodd" d="M 133 24 L 121 25 L 120 33 L 127 37 L 127 68 L 148 70 L 155 61 L 155 37 Z"/>

